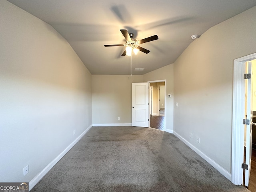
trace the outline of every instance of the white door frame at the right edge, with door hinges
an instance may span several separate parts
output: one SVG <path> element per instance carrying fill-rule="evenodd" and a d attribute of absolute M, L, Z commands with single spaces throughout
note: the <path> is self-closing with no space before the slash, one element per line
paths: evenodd
<path fill-rule="evenodd" d="M 232 114 L 232 159 L 231 182 L 235 185 L 243 184 L 244 162 L 244 125 L 242 119 L 245 111 L 245 62 L 256 59 L 256 53 L 234 60 L 233 78 L 233 114 Z"/>

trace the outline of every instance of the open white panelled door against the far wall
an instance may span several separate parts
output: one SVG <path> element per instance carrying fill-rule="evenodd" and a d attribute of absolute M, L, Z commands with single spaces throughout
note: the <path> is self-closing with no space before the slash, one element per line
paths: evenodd
<path fill-rule="evenodd" d="M 149 83 L 132 83 L 132 126 L 149 126 Z"/>

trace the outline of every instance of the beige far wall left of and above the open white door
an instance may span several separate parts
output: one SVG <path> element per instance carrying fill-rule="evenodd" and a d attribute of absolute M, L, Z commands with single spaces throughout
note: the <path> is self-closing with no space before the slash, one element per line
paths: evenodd
<path fill-rule="evenodd" d="M 143 76 L 92 75 L 93 124 L 132 123 L 133 82 L 143 82 Z"/>

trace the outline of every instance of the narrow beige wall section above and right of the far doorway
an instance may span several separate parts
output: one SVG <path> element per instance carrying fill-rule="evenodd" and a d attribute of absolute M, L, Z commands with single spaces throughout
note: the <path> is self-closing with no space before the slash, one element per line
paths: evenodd
<path fill-rule="evenodd" d="M 166 80 L 166 129 L 169 132 L 173 130 L 173 104 L 174 104 L 174 68 L 173 64 L 164 66 L 143 75 L 144 82 Z M 167 95 L 172 94 L 171 98 Z"/>

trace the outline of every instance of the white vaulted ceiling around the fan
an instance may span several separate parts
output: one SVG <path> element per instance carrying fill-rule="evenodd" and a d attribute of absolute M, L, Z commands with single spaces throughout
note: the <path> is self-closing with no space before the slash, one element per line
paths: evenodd
<path fill-rule="evenodd" d="M 54 27 L 72 46 L 92 74 L 128 74 L 128 56 L 120 29 L 151 52 L 132 56 L 132 74 L 145 74 L 172 64 L 210 27 L 253 6 L 256 0 L 8 0 Z M 134 68 L 145 68 L 134 71 Z"/>

